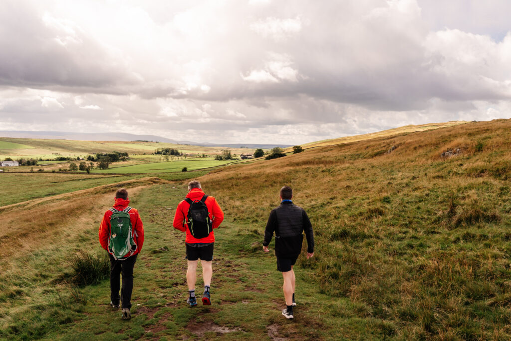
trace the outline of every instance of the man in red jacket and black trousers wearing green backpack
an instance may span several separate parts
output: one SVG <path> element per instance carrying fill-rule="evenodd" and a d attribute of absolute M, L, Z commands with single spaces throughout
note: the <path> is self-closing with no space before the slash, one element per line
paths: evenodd
<path fill-rule="evenodd" d="M 121 188 L 115 192 L 113 208 L 107 210 L 99 228 L 99 241 L 110 258 L 110 305 L 119 309 L 122 320 L 131 319 L 131 292 L 133 267 L 144 244 L 144 225 L 138 211 L 128 204 L 128 192 Z M 120 275 L 123 284 L 121 288 Z M 119 297 L 119 290 L 121 296 Z"/>

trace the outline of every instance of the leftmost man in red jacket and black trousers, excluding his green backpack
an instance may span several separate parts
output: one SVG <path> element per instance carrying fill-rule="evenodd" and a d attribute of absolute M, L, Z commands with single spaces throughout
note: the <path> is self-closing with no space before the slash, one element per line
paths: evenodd
<path fill-rule="evenodd" d="M 130 202 L 128 199 L 128 192 L 126 189 L 121 188 L 115 192 L 115 203 L 113 209 L 117 211 L 124 211 Z M 119 308 L 119 299 L 122 304 L 122 317 L 123 320 L 131 319 L 131 292 L 133 291 L 133 267 L 135 266 L 136 257 L 142 250 L 144 245 L 144 225 L 142 219 L 138 215 L 136 209 L 131 208 L 128 212 L 131 221 L 131 234 L 133 241 L 136 244 L 136 249 L 129 252 L 122 259 L 116 259 L 109 251 L 108 243 L 110 237 L 110 217 L 112 211 L 108 210 L 103 215 L 101 225 L 99 228 L 99 242 L 101 246 L 108 252 L 110 257 L 110 305 L 113 308 Z M 123 286 L 121 286 L 120 274 L 123 277 Z M 119 298 L 119 289 L 121 289 L 121 297 Z"/>

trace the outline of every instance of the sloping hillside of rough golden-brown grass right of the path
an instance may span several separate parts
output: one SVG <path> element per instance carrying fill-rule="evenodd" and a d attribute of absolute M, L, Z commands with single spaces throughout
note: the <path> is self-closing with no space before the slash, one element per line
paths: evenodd
<path fill-rule="evenodd" d="M 317 242 L 317 257 L 298 267 L 394 337 L 509 339 L 510 147 L 510 120 L 467 123 L 231 166 L 202 181 L 227 215 L 259 231 L 278 189 L 292 186 Z"/>

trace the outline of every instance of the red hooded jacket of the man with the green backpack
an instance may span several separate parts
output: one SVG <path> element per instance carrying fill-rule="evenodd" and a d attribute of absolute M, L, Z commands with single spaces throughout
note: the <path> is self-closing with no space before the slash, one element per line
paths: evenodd
<path fill-rule="evenodd" d="M 113 208 L 118 211 L 122 211 L 128 207 L 129 199 L 116 198 L 115 203 L 113 204 Z M 110 217 L 112 216 L 112 211 L 108 210 L 105 212 L 103 216 L 103 220 L 101 220 L 101 224 L 99 226 L 99 242 L 101 247 L 103 247 L 106 251 L 108 251 L 108 237 L 110 236 Z M 131 209 L 129 211 L 129 217 L 131 220 L 131 233 L 133 234 L 133 240 L 136 243 L 136 251 L 133 255 L 140 253 L 142 250 L 142 245 L 144 245 L 144 225 L 142 224 L 142 219 L 140 219 L 140 215 L 138 215 L 138 211 L 136 209 Z M 129 257 L 128 253 L 126 257 Z"/>

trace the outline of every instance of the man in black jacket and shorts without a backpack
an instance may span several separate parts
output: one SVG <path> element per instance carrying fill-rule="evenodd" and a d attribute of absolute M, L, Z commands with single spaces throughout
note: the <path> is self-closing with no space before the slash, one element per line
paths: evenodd
<path fill-rule="evenodd" d="M 286 309 L 282 314 L 287 319 L 293 319 L 295 276 L 293 265 L 301 253 L 301 243 L 304 240 L 303 232 L 307 238 L 307 259 L 314 256 L 314 232 L 312 224 L 305 210 L 296 206 L 293 201 L 293 190 L 284 186 L 280 191 L 281 205 L 273 209 L 266 224 L 264 232 L 263 251 L 269 252 L 268 244 L 275 232 L 275 256 L 277 257 L 277 270 L 284 277 L 284 298 Z"/>

